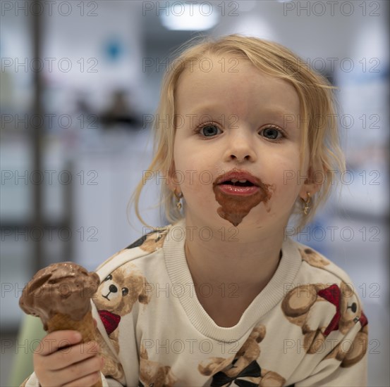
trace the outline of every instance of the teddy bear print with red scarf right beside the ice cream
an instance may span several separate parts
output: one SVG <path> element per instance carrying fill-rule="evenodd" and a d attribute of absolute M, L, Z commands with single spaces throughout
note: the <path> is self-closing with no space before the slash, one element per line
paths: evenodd
<path fill-rule="evenodd" d="M 97 288 L 95 304 L 116 353 L 119 352 L 118 325 L 121 317 L 128 315 L 135 303 L 149 303 L 150 298 L 145 292 L 146 284 L 147 280 L 142 272 L 132 262 L 128 262 L 109 274 Z M 99 344 L 104 345 L 101 341 Z M 107 359 L 106 363 L 107 372 L 118 368 L 113 359 Z"/>

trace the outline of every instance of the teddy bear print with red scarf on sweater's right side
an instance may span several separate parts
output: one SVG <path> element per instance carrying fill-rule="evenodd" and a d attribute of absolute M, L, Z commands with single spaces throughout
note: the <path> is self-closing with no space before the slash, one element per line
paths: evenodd
<path fill-rule="evenodd" d="M 333 316 L 326 326 L 318 326 L 314 322 L 316 305 L 323 306 L 334 305 L 331 309 Z M 330 303 L 330 304 L 324 304 Z M 352 326 L 360 322 L 362 329 L 358 334 L 358 341 L 361 345 L 351 346 L 349 350 L 343 352 L 337 345 L 328 357 L 343 359 L 342 366 L 349 367 L 358 362 L 367 350 L 367 318 L 365 317 L 358 298 L 355 296 L 351 286 L 345 282 L 341 285 L 332 284 L 305 284 L 296 286 L 289 291 L 281 303 L 281 309 L 289 322 L 302 328 L 304 335 L 303 346 L 307 353 L 317 353 L 319 348 L 332 331 L 340 331 L 346 334 Z M 365 340 L 366 338 L 366 340 Z M 358 343 L 358 342 L 357 342 Z M 347 365 L 348 364 L 348 365 Z"/>

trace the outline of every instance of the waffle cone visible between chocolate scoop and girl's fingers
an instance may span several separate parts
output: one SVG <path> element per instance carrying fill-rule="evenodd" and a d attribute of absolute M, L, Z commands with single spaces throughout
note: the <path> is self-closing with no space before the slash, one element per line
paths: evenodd
<path fill-rule="evenodd" d="M 87 314 L 80 321 L 71 319 L 68 315 L 63 315 L 62 313 L 57 313 L 54 317 L 51 317 L 47 321 L 47 331 L 61 331 L 63 329 L 72 329 L 74 331 L 79 331 L 81 336 L 83 336 L 81 342 L 87 343 L 88 341 L 95 341 L 96 328 L 92 317 L 92 312 L 87 312 Z M 97 381 L 92 387 L 102 387 L 102 380 Z"/>

